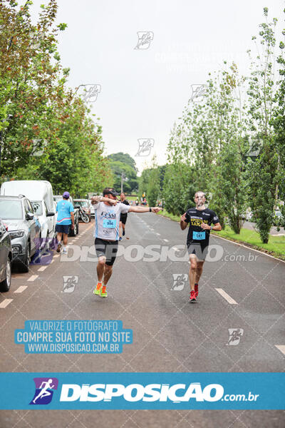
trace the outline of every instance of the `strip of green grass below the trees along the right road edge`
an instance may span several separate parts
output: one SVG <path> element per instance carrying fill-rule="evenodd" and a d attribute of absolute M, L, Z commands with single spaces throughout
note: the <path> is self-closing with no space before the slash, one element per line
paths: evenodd
<path fill-rule="evenodd" d="M 178 215 L 167 213 L 166 210 L 163 210 L 162 213 L 160 212 L 159 215 L 163 215 L 164 217 L 170 218 L 174 221 L 180 221 L 180 217 Z M 239 235 L 237 235 L 237 233 L 234 233 L 229 226 L 226 226 L 226 228 L 221 230 L 221 232 L 212 231 L 211 233 L 221 236 L 222 238 L 232 240 L 235 243 L 247 245 L 247 247 L 254 248 L 255 250 L 262 251 L 263 253 L 273 255 L 281 260 L 285 260 L 285 236 L 269 235 L 268 243 L 264 244 L 261 242 L 259 233 L 255 232 L 255 230 L 242 228 Z"/>

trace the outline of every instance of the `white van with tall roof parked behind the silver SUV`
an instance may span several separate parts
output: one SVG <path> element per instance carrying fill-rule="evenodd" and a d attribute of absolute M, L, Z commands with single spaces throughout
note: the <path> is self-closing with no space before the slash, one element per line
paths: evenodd
<path fill-rule="evenodd" d="M 1 185 L 1 195 L 25 195 L 33 206 L 38 221 L 41 223 L 41 238 L 53 238 L 56 228 L 53 205 L 53 188 L 45 180 L 13 180 Z"/>

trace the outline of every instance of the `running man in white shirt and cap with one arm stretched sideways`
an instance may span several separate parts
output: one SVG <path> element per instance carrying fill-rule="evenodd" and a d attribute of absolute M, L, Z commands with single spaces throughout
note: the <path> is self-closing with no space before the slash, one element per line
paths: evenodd
<path fill-rule="evenodd" d="M 107 283 L 112 275 L 112 268 L 118 252 L 120 214 L 123 213 L 158 213 L 161 208 L 133 207 L 117 200 L 113 188 L 105 188 L 103 196 L 93 196 L 91 203 L 95 212 L 95 251 L 98 257 L 98 282 L 93 293 L 107 297 Z"/>

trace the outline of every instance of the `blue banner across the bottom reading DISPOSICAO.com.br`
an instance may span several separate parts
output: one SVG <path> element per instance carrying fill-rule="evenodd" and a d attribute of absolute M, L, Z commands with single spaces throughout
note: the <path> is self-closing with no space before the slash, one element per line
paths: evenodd
<path fill-rule="evenodd" d="M 1 373 L 0 409 L 285 409 L 285 373 Z"/>

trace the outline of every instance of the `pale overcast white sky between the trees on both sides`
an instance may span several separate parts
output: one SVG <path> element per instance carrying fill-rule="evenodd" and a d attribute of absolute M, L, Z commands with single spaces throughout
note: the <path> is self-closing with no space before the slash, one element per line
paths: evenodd
<path fill-rule="evenodd" d="M 34 0 L 33 19 L 46 3 Z M 247 49 L 254 52 L 264 6 L 284 28 L 284 0 L 58 0 L 57 22 L 68 24 L 61 63 L 71 68 L 71 88 L 97 85 L 88 105 L 100 118 L 105 154 L 129 153 L 140 172 L 154 155 L 165 163 L 192 85 L 206 83 L 224 60 L 249 73 Z M 145 139 L 149 150 L 139 150 Z"/>

